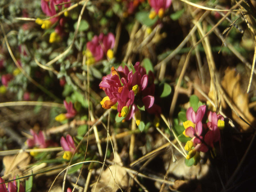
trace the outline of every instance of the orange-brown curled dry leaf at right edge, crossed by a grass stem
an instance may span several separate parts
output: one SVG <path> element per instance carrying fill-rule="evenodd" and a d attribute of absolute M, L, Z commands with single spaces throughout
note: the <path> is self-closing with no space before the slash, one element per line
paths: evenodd
<path fill-rule="evenodd" d="M 252 124 L 252 122 L 254 121 L 254 117 L 249 111 L 248 95 L 242 90 L 240 85 L 240 79 L 241 76 L 239 74 L 236 75 L 235 69 L 227 68 L 225 70 L 225 76 L 221 81 L 221 85 L 223 89 L 227 92 L 231 100 L 234 102 L 236 107 L 244 115 L 245 120 L 248 123 Z M 244 121 L 240 119 L 233 111 L 232 118 L 241 126 L 243 131 L 248 131 L 250 126 L 244 123 Z"/>

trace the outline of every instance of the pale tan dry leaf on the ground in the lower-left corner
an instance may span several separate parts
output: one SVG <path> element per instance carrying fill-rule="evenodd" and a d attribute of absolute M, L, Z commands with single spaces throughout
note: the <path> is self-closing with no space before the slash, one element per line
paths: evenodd
<path fill-rule="evenodd" d="M 5 167 L 4 175 L 12 172 L 12 174 L 8 175 L 6 179 L 12 179 L 15 175 L 22 175 L 23 168 L 27 166 L 30 162 L 31 156 L 26 153 L 22 152 L 17 155 L 9 155 L 4 156 L 3 158 L 3 164 Z"/>

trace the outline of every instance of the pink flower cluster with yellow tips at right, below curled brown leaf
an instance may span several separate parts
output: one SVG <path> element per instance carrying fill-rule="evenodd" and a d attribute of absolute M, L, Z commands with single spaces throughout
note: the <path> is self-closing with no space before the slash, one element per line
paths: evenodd
<path fill-rule="evenodd" d="M 220 129 L 224 128 L 224 117 L 215 112 L 209 112 L 207 124 L 202 120 L 206 111 L 206 106 L 200 106 L 195 112 L 192 107 L 186 112 L 187 121 L 183 122 L 185 128 L 183 134 L 192 138 L 185 145 L 188 151 L 187 159 L 199 156 L 199 152 L 207 152 L 209 148 L 214 148 L 214 143 L 220 140 Z"/>

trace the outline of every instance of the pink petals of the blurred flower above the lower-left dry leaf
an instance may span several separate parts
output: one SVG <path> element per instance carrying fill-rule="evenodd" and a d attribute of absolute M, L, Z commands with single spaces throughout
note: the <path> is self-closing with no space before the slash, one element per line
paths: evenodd
<path fill-rule="evenodd" d="M 30 129 L 30 133 L 33 135 L 33 139 L 27 139 L 28 147 L 39 147 L 39 148 L 47 148 L 48 144 L 45 141 L 44 134 L 42 131 L 39 131 L 38 134 L 33 129 Z"/>

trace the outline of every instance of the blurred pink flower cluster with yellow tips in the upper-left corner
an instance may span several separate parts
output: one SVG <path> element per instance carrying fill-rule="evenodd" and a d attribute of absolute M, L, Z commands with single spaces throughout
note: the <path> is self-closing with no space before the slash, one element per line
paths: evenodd
<path fill-rule="evenodd" d="M 41 8 L 42 11 L 44 12 L 45 15 L 52 17 L 54 15 L 56 15 L 57 11 L 56 9 L 59 11 L 61 11 L 63 8 L 68 8 L 70 7 L 70 3 L 68 3 L 70 0 L 41 0 Z M 64 5 L 58 5 L 58 4 L 62 4 L 65 3 Z M 56 6 L 58 5 L 58 6 Z M 55 8 L 56 7 L 56 8 Z M 64 12 L 64 16 L 67 17 L 68 16 L 68 12 Z M 65 35 L 64 32 L 64 24 L 65 24 L 65 17 L 53 17 L 49 20 L 42 20 L 37 18 L 36 19 L 36 23 L 41 25 L 41 28 L 43 29 L 49 29 L 53 24 L 55 24 L 56 22 L 59 21 L 59 24 L 55 27 L 55 30 L 50 34 L 50 39 L 49 42 L 50 43 L 54 43 L 54 42 L 60 42 L 62 36 Z"/>

